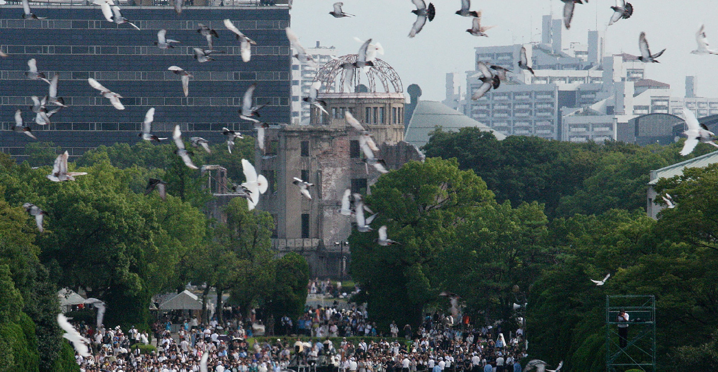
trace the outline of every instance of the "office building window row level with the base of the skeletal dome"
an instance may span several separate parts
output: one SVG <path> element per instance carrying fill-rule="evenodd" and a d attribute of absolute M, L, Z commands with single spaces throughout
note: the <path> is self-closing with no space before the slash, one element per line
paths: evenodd
<path fill-rule="evenodd" d="M 122 94 L 121 91 L 118 93 Z M 106 106 L 110 101 L 104 97 L 64 97 L 67 106 Z M 125 97 L 124 106 L 242 106 L 243 97 Z M 255 103 L 266 106 L 289 106 L 286 97 L 255 97 Z M 1 105 L 31 105 L 32 99 L 19 96 L 1 96 Z"/>

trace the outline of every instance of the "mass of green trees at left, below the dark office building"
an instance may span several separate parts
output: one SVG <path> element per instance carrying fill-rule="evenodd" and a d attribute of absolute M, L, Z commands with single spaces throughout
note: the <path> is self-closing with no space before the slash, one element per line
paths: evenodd
<path fill-rule="evenodd" d="M 69 167 L 88 175 L 73 182 L 45 178 L 61 151 L 51 143 L 30 144 L 22 164 L 0 154 L 0 371 L 78 370 L 55 320 L 63 287 L 106 302 L 111 327 L 148 328 L 151 296 L 189 282 L 230 292 L 244 311 L 303 310 L 307 263 L 271 249 L 271 215 L 248 212 L 236 198 L 225 220 L 205 217 L 213 198 L 206 178 L 173 146 L 141 141 L 86 152 Z M 197 163 L 222 164 L 230 181 L 242 182 L 240 160 L 253 159 L 253 140 L 236 141 L 231 155 L 225 144 L 212 149 L 196 151 Z M 168 182 L 166 200 L 144 195 L 149 177 Z M 23 203 L 47 212 L 44 233 Z"/>

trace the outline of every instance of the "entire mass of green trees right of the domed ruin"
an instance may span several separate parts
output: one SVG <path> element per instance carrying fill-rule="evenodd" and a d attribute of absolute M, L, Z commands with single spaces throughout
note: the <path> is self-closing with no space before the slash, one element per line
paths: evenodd
<path fill-rule="evenodd" d="M 513 302 L 526 295 L 531 357 L 572 371 L 605 371 L 607 295 L 653 294 L 659 371 L 677 361 L 683 369 L 671 371 L 715 366 L 718 165 L 659 182 L 677 206 L 658 221 L 643 210 L 650 170 L 711 151 L 681 157 L 681 146 L 497 141 L 439 129 L 426 162 L 372 187 L 375 228 L 388 225 L 403 245 L 353 233 L 353 278 L 382 325 L 447 310 L 442 291 L 460 295 L 480 324 L 510 324 Z M 603 286 L 589 281 L 607 273 Z"/>

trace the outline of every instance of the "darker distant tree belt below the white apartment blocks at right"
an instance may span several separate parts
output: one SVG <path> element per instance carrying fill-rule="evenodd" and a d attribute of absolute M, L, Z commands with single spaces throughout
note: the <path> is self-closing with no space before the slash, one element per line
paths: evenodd
<path fill-rule="evenodd" d="M 460 169 L 473 169 L 499 202 L 543 203 L 546 215 L 554 218 L 645 207 L 648 171 L 713 149 L 699 144 L 693 154 L 681 157 L 681 147 L 682 141 L 665 147 L 609 141 L 579 144 L 528 136 L 498 141 L 477 128 L 446 132 L 439 127 L 423 149 L 427 157 L 455 157 Z"/>

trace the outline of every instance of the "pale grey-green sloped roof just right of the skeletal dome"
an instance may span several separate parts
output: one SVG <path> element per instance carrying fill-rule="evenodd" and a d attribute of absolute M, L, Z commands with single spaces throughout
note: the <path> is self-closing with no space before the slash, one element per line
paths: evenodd
<path fill-rule="evenodd" d="M 434 131 L 436 126 L 442 126 L 444 131 L 458 131 L 461 128 L 473 126 L 482 131 L 492 132 L 497 139 L 506 138 L 500 132 L 490 129 L 485 124 L 475 121 L 444 103 L 419 101 L 411 115 L 409 126 L 406 128 L 404 141 L 416 147 L 422 147 L 429 141 L 429 132 Z"/>

